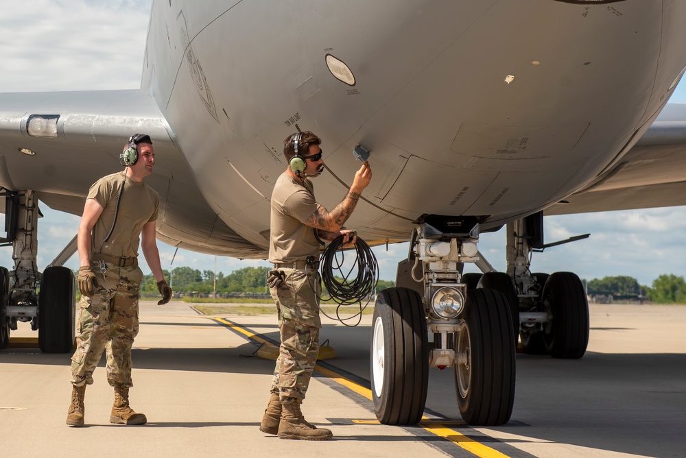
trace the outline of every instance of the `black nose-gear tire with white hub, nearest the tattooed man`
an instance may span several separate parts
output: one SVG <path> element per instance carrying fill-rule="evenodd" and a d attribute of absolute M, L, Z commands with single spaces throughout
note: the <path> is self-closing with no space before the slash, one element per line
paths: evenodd
<path fill-rule="evenodd" d="M 370 375 L 379 422 L 417 424 L 422 419 L 429 385 L 429 344 L 424 306 L 416 291 L 389 288 L 377 296 Z"/>

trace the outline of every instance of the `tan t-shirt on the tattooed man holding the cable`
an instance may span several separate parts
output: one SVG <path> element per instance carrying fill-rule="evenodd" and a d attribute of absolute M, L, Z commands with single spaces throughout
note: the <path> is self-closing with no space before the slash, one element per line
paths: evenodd
<path fill-rule="evenodd" d="M 310 180 L 306 179 L 303 186 L 285 172 L 279 176 L 272 191 L 270 263 L 294 263 L 319 256 L 314 228 L 303 224 L 319 207 Z"/>

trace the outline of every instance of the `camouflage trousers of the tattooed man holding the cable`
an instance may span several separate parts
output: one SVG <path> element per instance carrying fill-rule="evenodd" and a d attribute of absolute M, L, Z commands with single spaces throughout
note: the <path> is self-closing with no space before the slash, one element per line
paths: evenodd
<path fill-rule="evenodd" d="M 309 380 L 319 354 L 319 317 L 317 295 L 321 295 L 318 273 L 308 269 L 283 269 L 286 279 L 270 288 L 279 313 L 281 346 L 276 359 L 272 392 L 281 402 L 305 399 Z M 313 289 L 316 287 L 316 293 Z"/>

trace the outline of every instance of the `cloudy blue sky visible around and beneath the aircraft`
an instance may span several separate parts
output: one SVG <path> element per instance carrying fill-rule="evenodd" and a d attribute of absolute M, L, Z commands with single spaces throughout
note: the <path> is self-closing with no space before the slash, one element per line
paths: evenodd
<path fill-rule="evenodd" d="M 6 2 L 0 17 L 0 91 L 80 91 L 139 88 L 150 0 L 25 0 Z M 686 103 L 686 83 L 670 101 Z M 373 165 L 373 164 L 372 164 Z M 322 178 L 319 178 L 322 179 Z M 76 234 L 79 217 L 47 206 L 38 224 L 38 268 L 43 269 Z M 3 226 L 0 226 L 3 227 Z M 534 272 L 576 272 L 581 278 L 628 275 L 651 285 L 660 274 L 686 274 L 686 207 L 652 208 L 545 218 L 547 243 L 591 233 L 589 239 L 534 254 Z M 158 242 L 163 268 L 189 266 L 228 274 L 268 265 L 178 250 Z M 505 268 L 504 230 L 482 234 L 480 250 Z M 407 243 L 375 248 L 381 278 L 395 278 Z M 143 256 L 143 271 L 150 273 Z M 0 248 L 12 268 L 12 249 Z M 78 268 L 78 256 L 68 267 Z M 466 270 L 476 272 L 475 267 Z"/>

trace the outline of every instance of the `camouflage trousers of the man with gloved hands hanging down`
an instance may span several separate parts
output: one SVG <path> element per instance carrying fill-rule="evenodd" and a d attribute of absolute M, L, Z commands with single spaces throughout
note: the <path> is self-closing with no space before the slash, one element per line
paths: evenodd
<path fill-rule="evenodd" d="M 93 297 L 81 297 L 76 324 L 76 352 L 71 357 L 71 383 L 93 384 L 93 371 L 107 356 L 107 381 L 113 387 L 132 387 L 131 347 L 138 334 L 138 297 L 143 279 L 140 267 L 107 263 L 102 274 L 97 262 Z"/>

